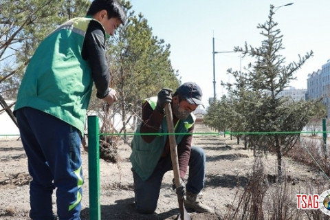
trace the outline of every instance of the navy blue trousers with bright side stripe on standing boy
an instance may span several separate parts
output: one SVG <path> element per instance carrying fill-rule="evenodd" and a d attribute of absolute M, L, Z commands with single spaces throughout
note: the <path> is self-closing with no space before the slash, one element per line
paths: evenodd
<path fill-rule="evenodd" d="M 78 129 L 29 107 L 18 109 L 15 114 L 32 177 L 31 219 L 53 219 L 52 193 L 57 188 L 59 219 L 79 220 L 83 170 Z"/>

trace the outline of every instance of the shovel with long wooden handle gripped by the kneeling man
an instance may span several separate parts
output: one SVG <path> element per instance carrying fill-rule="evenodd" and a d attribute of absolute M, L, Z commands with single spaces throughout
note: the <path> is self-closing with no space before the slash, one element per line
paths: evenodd
<path fill-rule="evenodd" d="M 170 158 L 172 159 L 173 173 L 174 173 L 174 184 L 175 187 L 180 186 L 180 175 L 179 175 L 179 159 L 177 159 L 177 142 L 175 141 L 174 126 L 173 126 L 173 116 L 172 109 L 170 108 L 170 103 L 165 104 L 165 114 L 168 126 L 168 138 L 170 140 Z M 177 195 L 177 201 L 179 202 L 180 214 L 177 219 L 190 220 L 190 216 L 184 208 L 184 198 Z"/>

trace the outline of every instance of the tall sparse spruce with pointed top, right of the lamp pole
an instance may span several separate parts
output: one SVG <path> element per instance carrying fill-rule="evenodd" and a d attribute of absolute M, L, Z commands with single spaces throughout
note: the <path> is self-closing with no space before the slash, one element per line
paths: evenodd
<path fill-rule="evenodd" d="M 264 24 L 257 28 L 265 37 L 260 47 L 252 47 L 245 43 L 245 47 L 235 47 L 236 52 L 256 59 L 245 70 L 247 73 L 232 72 L 236 79 L 230 85 L 231 93 L 236 97 L 236 111 L 245 115 L 245 131 L 259 133 L 248 135 L 252 147 L 259 152 L 274 152 L 277 156 L 278 176 L 282 176 L 282 157 L 298 141 L 299 133 L 316 112 L 319 100 L 293 102 L 289 98 L 278 97 L 278 94 L 289 83 L 296 79 L 294 73 L 307 61 L 313 52 L 307 52 L 299 57 L 298 62 L 285 64 L 285 58 L 280 54 L 284 49 L 281 31 L 274 21 L 274 6 L 270 5 L 270 14 Z M 278 132 L 287 132 L 279 134 Z M 265 132 L 265 133 L 262 133 Z M 292 132 L 292 133 L 290 133 Z"/>

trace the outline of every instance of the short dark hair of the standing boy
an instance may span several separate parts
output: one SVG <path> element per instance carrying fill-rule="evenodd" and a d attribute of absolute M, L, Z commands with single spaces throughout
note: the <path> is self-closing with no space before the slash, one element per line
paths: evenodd
<path fill-rule="evenodd" d="M 94 0 L 89 7 L 87 15 L 93 16 L 101 10 L 107 10 L 108 19 L 118 18 L 123 25 L 126 23 L 126 14 L 117 0 Z"/>

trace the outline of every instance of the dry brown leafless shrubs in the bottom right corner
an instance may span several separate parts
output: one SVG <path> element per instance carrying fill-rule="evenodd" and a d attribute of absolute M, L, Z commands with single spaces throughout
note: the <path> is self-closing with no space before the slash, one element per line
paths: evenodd
<path fill-rule="evenodd" d="M 325 157 L 317 153 L 319 148 L 316 148 L 314 144 L 309 144 L 308 148 L 316 161 L 311 159 L 308 153 L 302 153 L 301 150 L 297 151 L 298 147 L 294 148 L 290 156 L 308 166 L 316 166 L 316 163 L 321 164 L 320 166 L 327 170 Z M 284 176 L 287 177 L 285 172 Z M 322 179 L 305 179 L 305 186 L 303 187 L 301 185 L 295 186 L 294 182 L 289 181 L 288 178 L 283 178 L 281 182 L 278 180 L 275 182 L 269 181 L 267 174 L 265 174 L 263 161 L 256 157 L 248 177 L 248 184 L 243 189 L 237 190 L 234 201 L 228 206 L 223 219 L 328 220 L 330 216 L 320 210 L 298 209 L 296 194 L 320 195 L 329 189 L 329 179 L 325 177 Z"/>

